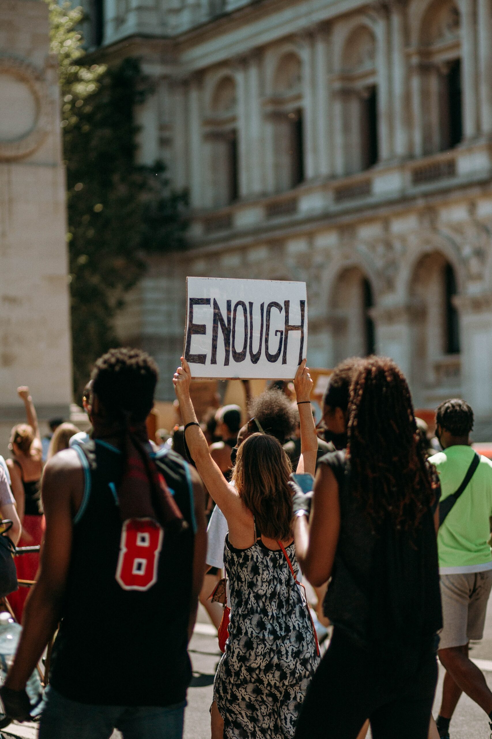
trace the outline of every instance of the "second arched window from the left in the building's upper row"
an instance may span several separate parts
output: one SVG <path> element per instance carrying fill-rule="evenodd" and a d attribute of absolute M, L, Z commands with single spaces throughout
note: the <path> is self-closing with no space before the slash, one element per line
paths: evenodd
<path fill-rule="evenodd" d="M 304 128 L 301 61 L 288 52 L 277 64 L 273 80 L 274 188 L 290 190 L 304 180 Z"/>

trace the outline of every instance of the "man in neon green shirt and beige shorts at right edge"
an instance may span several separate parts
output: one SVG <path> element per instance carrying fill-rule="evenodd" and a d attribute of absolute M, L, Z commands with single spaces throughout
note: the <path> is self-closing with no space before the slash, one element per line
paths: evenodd
<path fill-rule="evenodd" d="M 436 436 L 443 452 L 430 457 L 440 477 L 441 500 L 460 487 L 476 455 L 470 446 L 474 414 L 465 401 L 441 403 Z M 471 639 L 483 636 L 492 588 L 492 553 L 488 545 L 492 515 L 492 463 L 480 457 L 473 477 L 440 525 L 437 534 L 443 630 L 439 658 L 446 675 L 437 717 L 441 739 L 449 739 L 449 722 L 462 692 L 488 714 L 492 729 L 492 692 L 479 668 L 468 658 Z"/>

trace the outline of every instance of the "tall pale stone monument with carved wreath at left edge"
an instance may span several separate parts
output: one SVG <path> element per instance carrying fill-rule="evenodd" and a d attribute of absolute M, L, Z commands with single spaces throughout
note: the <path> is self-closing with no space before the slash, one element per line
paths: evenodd
<path fill-rule="evenodd" d="M 72 398 L 66 187 L 57 60 L 42 0 L 0 2 L 0 454 L 24 420 L 18 385 L 41 419 Z"/>

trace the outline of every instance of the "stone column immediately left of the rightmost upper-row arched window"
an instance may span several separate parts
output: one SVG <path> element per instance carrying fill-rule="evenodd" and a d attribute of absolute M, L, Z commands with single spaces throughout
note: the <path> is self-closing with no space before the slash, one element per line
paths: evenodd
<path fill-rule="evenodd" d="M 405 55 L 405 10 L 402 0 L 390 5 L 393 150 L 397 157 L 409 154 L 408 75 Z"/>

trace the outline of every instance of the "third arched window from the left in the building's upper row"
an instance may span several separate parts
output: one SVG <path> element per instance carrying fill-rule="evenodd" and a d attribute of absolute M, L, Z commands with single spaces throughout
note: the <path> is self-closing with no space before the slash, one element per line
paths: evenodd
<path fill-rule="evenodd" d="M 350 33 L 342 53 L 343 140 L 345 174 L 378 161 L 378 89 L 375 38 L 366 26 Z"/>

